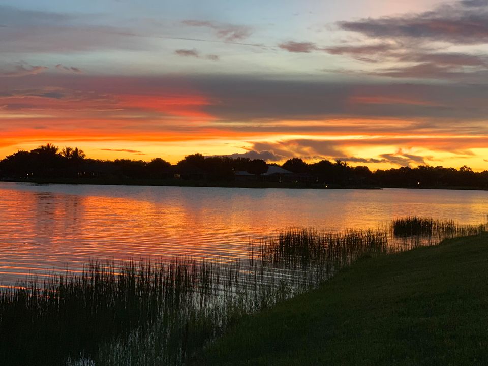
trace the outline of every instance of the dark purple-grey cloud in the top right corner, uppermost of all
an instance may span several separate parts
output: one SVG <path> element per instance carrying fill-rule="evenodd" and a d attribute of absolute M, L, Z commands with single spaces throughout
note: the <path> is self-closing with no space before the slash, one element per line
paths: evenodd
<path fill-rule="evenodd" d="M 379 39 L 484 44 L 488 43 L 487 5 L 485 1 L 468 0 L 420 14 L 342 21 L 338 25 L 345 31 Z"/>

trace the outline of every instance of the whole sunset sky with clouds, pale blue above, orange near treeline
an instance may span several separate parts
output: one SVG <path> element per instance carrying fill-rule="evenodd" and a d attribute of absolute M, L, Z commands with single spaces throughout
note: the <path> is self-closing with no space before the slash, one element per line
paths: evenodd
<path fill-rule="evenodd" d="M 3 0 L 0 159 L 488 169 L 488 0 Z"/>

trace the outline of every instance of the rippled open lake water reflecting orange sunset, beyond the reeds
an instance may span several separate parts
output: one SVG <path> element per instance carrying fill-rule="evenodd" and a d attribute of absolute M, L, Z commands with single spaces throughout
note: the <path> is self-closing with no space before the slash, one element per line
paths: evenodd
<path fill-rule="evenodd" d="M 485 221 L 488 192 L 0 183 L 0 283 L 89 258 L 240 257 L 290 226 L 375 228 L 407 215 Z"/>

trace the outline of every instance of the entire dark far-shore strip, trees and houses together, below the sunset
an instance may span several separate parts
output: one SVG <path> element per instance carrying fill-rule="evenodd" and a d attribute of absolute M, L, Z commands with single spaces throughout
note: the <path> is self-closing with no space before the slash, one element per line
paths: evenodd
<path fill-rule="evenodd" d="M 268 174 L 269 167 L 284 169 Z M 322 160 L 308 164 L 293 158 L 279 166 L 260 159 L 228 156 L 186 156 L 172 165 L 161 158 L 150 162 L 87 159 L 83 150 L 52 144 L 18 151 L 0 161 L 0 179 L 26 182 L 141 184 L 215 187 L 282 188 L 457 188 L 488 189 L 488 171 L 441 166 L 376 170 L 347 162 Z"/>

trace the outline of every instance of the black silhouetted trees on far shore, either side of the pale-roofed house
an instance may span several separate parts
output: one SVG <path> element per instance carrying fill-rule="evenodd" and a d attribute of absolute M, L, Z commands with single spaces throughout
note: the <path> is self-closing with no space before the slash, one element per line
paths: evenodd
<path fill-rule="evenodd" d="M 400 167 L 371 172 L 368 167 L 348 166 L 346 162 L 322 160 L 307 164 L 293 158 L 283 168 L 302 173 L 307 171 L 313 182 L 336 186 L 376 185 L 382 187 L 476 187 L 488 188 L 488 171 L 474 172 L 468 166 L 460 169 L 420 165 L 416 168 Z M 17 151 L 0 161 L 0 175 L 12 179 L 56 179 L 78 177 L 82 169 L 85 178 L 164 179 L 179 172 L 182 179 L 232 180 L 237 170 L 260 175 L 267 171 L 264 160 L 249 158 L 207 157 L 188 155 L 176 166 L 156 158 L 150 163 L 142 160 L 118 159 L 101 161 L 85 159 L 83 150 L 65 146 L 60 152 L 51 143 L 28 151 Z"/>

